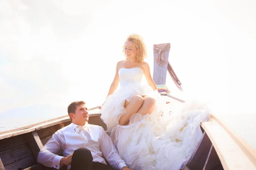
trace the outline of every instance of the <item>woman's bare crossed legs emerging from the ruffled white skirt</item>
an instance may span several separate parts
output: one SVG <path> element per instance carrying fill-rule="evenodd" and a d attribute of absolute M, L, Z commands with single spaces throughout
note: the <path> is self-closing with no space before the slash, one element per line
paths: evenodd
<path fill-rule="evenodd" d="M 150 96 L 135 95 L 131 98 L 130 102 L 125 100 L 124 107 L 126 113 L 119 119 L 119 125 L 128 125 L 130 118 L 134 113 L 140 113 L 143 116 L 151 113 L 154 109 L 154 105 L 155 99 Z"/>

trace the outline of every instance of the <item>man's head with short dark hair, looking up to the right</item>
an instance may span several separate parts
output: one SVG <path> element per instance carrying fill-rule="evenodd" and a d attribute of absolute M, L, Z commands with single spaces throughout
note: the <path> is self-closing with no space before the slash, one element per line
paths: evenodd
<path fill-rule="evenodd" d="M 87 110 L 84 101 L 72 102 L 67 108 L 67 113 L 73 123 L 76 125 L 84 125 L 84 123 L 89 120 Z"/>

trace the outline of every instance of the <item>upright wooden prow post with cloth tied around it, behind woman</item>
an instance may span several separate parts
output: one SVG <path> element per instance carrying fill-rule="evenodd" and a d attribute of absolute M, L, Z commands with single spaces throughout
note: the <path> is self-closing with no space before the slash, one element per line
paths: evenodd
<path fill-rule="evenodd" d="M 153 80 L 156 83 L 156 85 L 166 84 L 166 74 L 167 74 L 167 65 L 168 65 L 170 48 L 171 48 L 170 43 L 156 44 L 153 46 L 153 50 L 154 50 Z M 160 59 L 159 57 L 165 60 L 165 63 L 163 65 L 160 65 L 159 63 L 157 63 L 157 59 Z"/>

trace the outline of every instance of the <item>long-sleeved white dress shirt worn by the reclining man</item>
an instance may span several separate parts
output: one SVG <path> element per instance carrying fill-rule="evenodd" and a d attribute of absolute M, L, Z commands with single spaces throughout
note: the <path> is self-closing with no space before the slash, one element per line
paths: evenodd
<path fill-rule="evenodd" d="M 55 132 L 38 153 L 38 162 L 59 169 L 61 159 L 80 147 L 90 150 L 93 161 L 107 164 L 106 159 L 114 169 L 118 170 L 126 167 L 125 161 L 117 153 L 105 130 L 101 126 L 90 125 L 87 122 L 82 127 L 71 123 Z M 61 153 L 63 156 L 58 156 Z M 70 167 L 69 165 L 68 169 Z"/>

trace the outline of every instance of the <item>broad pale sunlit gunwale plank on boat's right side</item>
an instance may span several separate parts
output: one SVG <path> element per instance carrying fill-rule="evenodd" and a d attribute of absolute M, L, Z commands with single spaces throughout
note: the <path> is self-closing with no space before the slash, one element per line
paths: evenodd
<path fill-rule="evenodd" d="M 239 145 L 214 119 L 202 122 L 201 126 L 209 136 L 224 169 L 256 170 L 255 162 L 250 161 Z"/>

